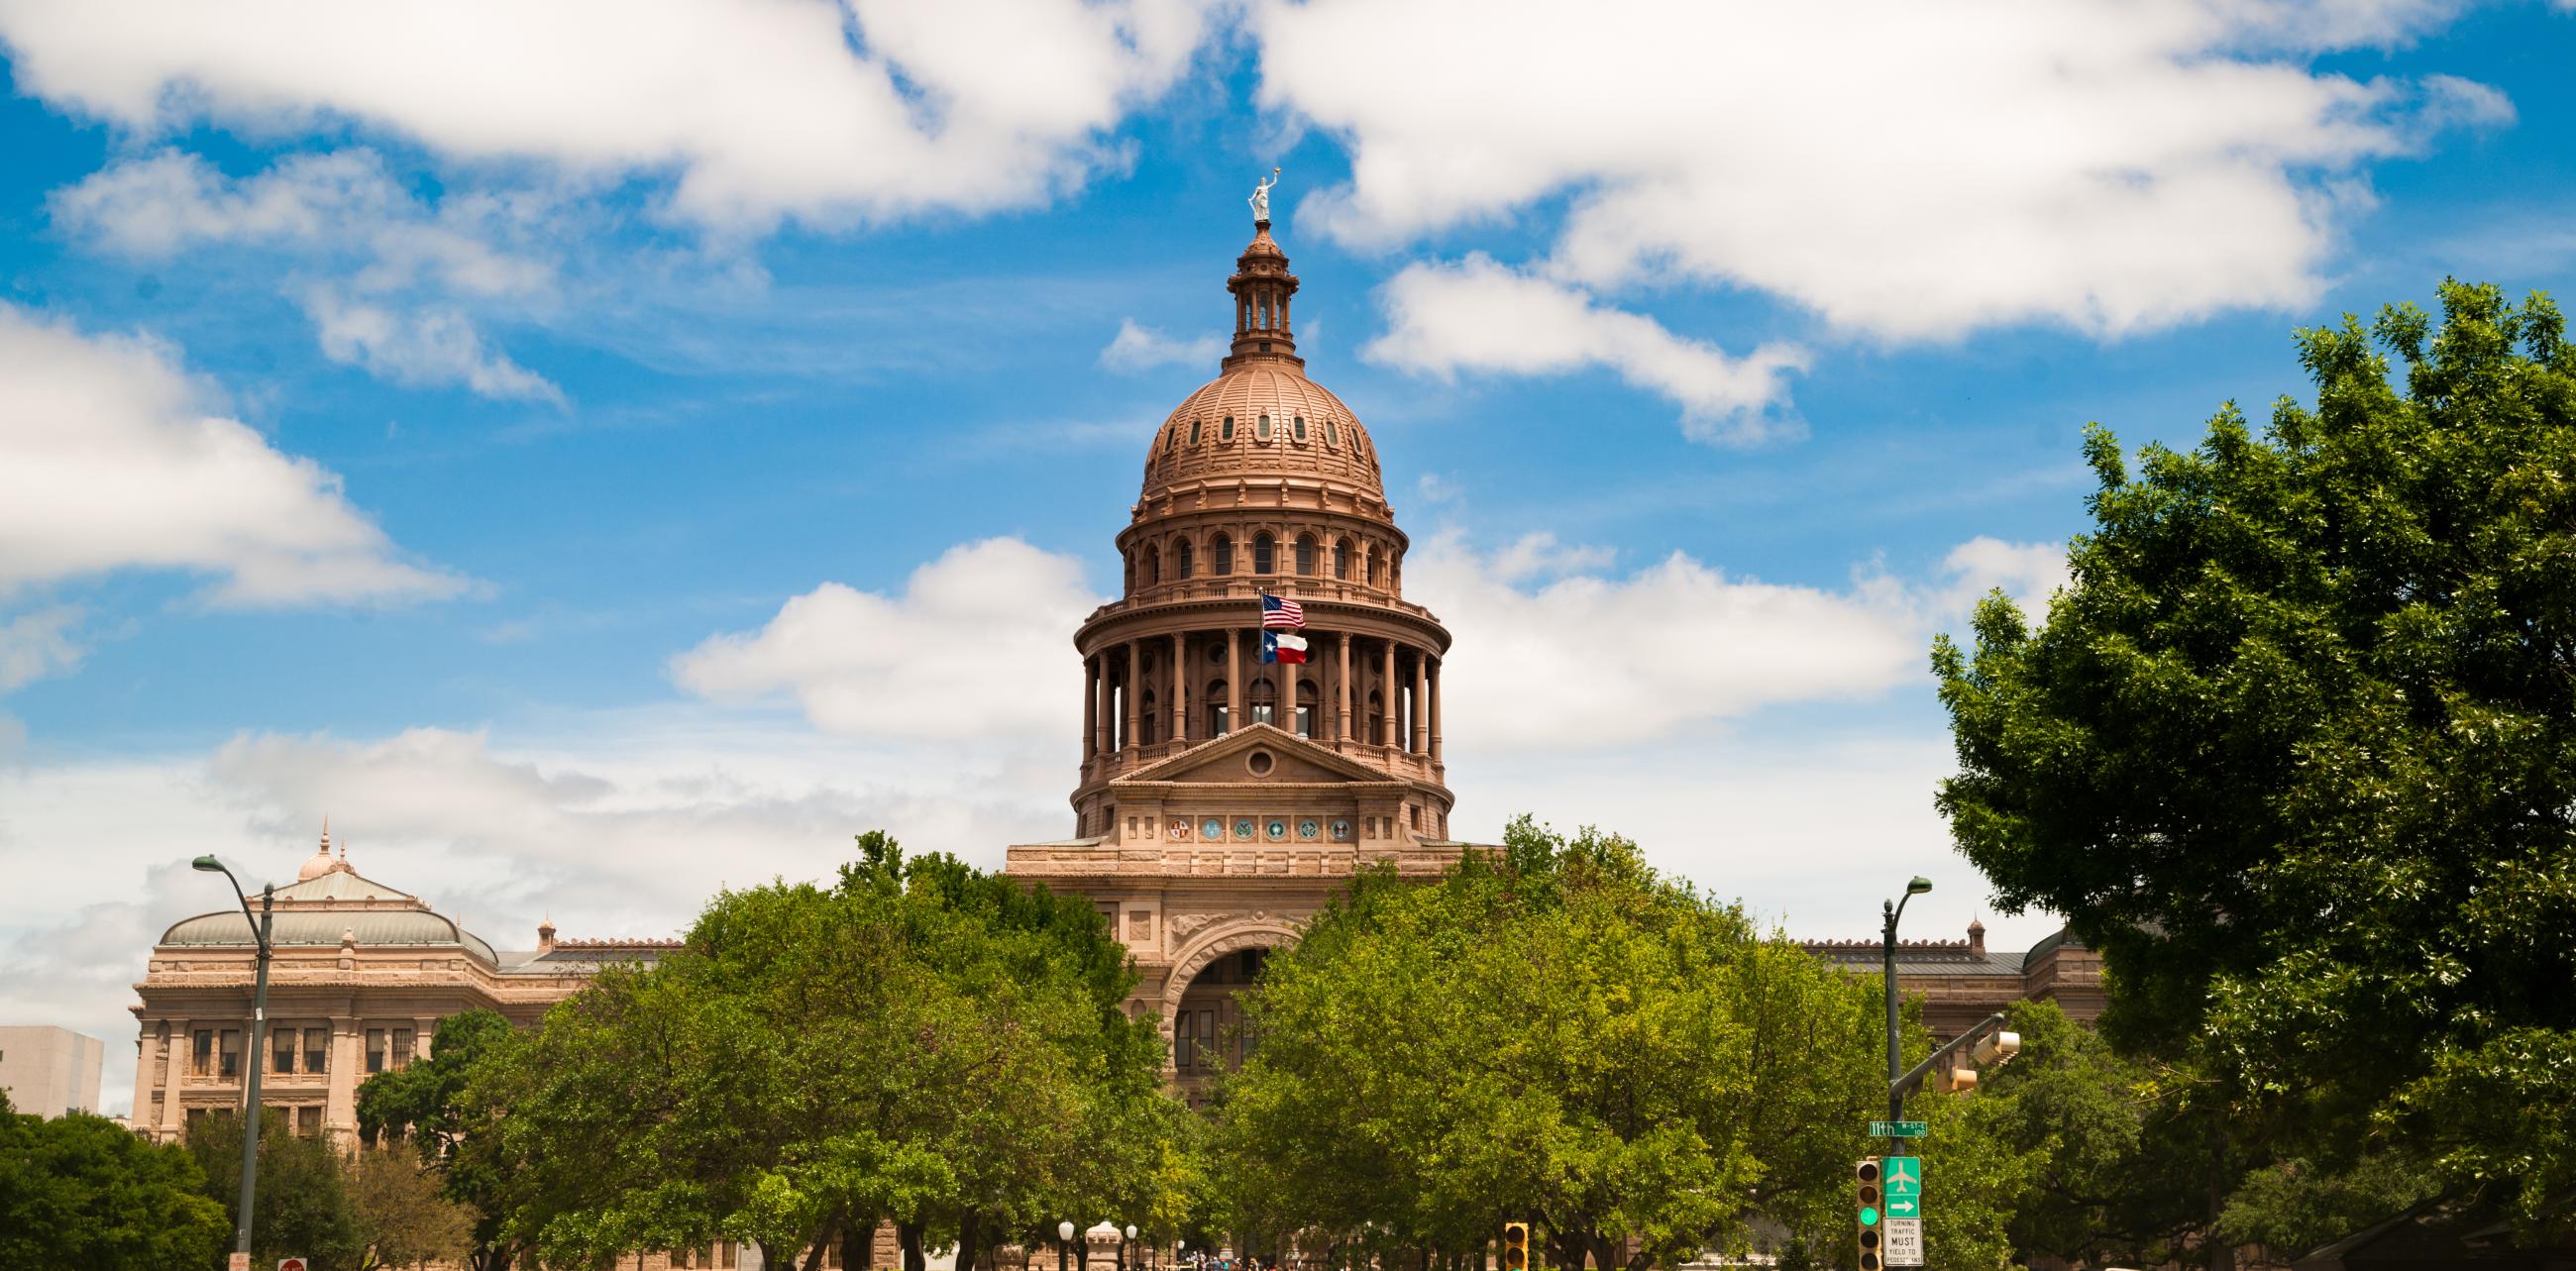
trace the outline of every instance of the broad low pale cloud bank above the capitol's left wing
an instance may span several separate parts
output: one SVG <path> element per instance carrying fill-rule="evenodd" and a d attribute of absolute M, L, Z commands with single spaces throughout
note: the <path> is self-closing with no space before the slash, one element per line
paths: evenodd
<path fill-rule="evenodd" d="M 500 949 L 675 936 L 721 884 L 817 879 L 850 835 L 997 866 L 1064 833 L 1072 766 L 1025 745 L 853 748 L 693 714 L 580 719 L 569 745 L 482 732 L 376 740 L 245 735 L 211 755 L 0 766 L 0 1018 L 108 1042 L 106 1103 L 131 1098 L 134 1000 L 170 923 L 232 905 L 185 861 L 286 882 L 330 815 L 350 864 Z"/>

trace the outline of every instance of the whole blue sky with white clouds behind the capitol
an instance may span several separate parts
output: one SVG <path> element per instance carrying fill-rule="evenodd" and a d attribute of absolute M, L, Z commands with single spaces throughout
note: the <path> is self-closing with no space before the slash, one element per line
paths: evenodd
<path fill-rule="evenodd" d="M 2545 3 L 126 8 L 0 0 L 0 1018 L 118 1047 L 175 861 L 322 815 L 502 946 L 1061 833 L 1273 165 L 1458 828 L 1803 936 L 2053 928 L 1947 851 L 1924 645 L 2061 577 L 2087 420 L 2576 268 Z"/>

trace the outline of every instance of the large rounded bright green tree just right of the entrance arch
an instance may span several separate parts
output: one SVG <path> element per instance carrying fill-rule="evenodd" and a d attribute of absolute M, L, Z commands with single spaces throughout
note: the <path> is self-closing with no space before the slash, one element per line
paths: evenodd
<path fill-rule="evenodd" d="M 1239 1230 L 1455 1256 L 1535 1217 L 1561 1266 L 1669 1266 L 1767 1214 L 1814 1258 L 1886 1098 L 1873 980 L 1528 817 L 1437 884 L 1363 874 L 1244 1008 Z"/>

